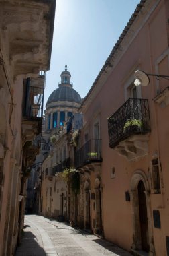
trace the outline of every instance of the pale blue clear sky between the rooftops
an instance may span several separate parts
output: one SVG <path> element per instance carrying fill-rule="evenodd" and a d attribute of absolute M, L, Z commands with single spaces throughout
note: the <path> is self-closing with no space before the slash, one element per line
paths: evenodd
<path fill-rule="evenodd" d="M 139 0 L 56 0 L 44 104 L 68 66 L 74 90 L 86 96 Z"/>

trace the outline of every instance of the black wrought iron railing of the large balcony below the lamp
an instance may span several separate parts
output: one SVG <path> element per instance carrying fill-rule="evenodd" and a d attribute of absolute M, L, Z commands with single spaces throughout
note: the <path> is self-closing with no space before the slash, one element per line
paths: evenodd
<path fill-rule="evenodd" d="M 108 119 L 109 146 L 115 148 L 134 134 L 146 134 L 150 131 L 150 113 L 148 100 L 129 98 Z"/>

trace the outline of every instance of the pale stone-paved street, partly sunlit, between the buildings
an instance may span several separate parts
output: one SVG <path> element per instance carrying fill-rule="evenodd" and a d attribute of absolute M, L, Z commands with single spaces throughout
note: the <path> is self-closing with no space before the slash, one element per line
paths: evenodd
<path fill-rule="evenodd" d="M 131 256 L 131 253 L 64 222 L 25 216 L 24 234 L 15 256 Z"/>

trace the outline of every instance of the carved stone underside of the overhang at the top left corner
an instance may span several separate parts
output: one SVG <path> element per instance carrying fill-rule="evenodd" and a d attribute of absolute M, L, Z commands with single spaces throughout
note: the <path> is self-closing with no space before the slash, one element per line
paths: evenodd
<path fill-rule="evenodd" d="M 18 75 L 36 77 L 50 65 L 55 0 L 15 2 L 15 5 L 9 0 L 0 3 L 5 62 L 9 60 L 8 72 L 14 79 Z"/>

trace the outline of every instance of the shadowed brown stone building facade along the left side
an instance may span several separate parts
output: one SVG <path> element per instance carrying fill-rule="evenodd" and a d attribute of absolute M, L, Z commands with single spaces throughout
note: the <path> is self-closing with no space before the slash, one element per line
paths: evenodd
<path fill-rule="evenodd" d="M 56 1 L 0 1 L 0 255 L 21 240 L 25 182 L 38 154 Z M 33 142 L 34 140 L 34 142 Z"/>

